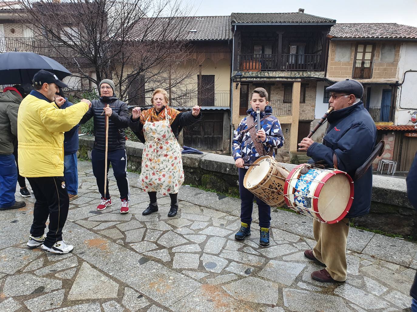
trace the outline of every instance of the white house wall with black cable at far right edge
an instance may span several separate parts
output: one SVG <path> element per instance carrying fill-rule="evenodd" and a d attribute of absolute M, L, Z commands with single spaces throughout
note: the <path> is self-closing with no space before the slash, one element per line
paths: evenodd
<path fill-rule="evenodd" d="M 409 72 L 415 71 L 415 72 Z M 417 111 L 417 43 L 404 42 L 399 50 L 398 63 L 399 83 L 394 124 L 411 125 L 410 117 Z M 404 76 L 405 73 L 405 76 Z"/>

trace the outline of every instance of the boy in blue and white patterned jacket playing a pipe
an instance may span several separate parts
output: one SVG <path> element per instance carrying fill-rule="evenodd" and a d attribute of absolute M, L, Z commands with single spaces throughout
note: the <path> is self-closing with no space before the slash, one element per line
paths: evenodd
<path fill-rule="evenodd" d="M 253 163 L 260 156 L 267 155 L 273 149 L 278 149 L 284 144 L 281 125 L 278 119 L 272 115 L 272 107 L 268 105 L 268 92 L 264 88 L 256 88 L 251 94 L 251 108 L 249 116 L 242 119 L 236 129 L 233 139 L 233 158 L 236 167 L 239 168 L 239 194 L 241 198 L 241 227 L 236 233 L 237 240 L 243 240 L 251 235 L 252 210 L 254 194 L 244 187 L 243 179 L 248 171 L 245 163 Z M 257 129 L 256 110 L 259 109 L 261 129 Z M 256 128 L 256 132 L 251 128 Z M 252 132 L 252 134 L 250 133 Z M 257 140 L 260 144 L 255 144 Z M 256 146 L 261 146 L 259 151 Z M 261 155 L 260 155 L 261 154 Z M 272 154 L 274 157 L 274 154 Z M 259 210 L 260 240 L 262 246 L 269 245 L 269 225 L 271 221 L 271 206 L 259 198 L 256 198 Z"/>

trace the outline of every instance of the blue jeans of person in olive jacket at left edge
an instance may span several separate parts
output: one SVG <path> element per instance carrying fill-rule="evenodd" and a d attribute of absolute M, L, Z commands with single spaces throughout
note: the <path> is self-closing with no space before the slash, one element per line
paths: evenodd
<path fill-rule="evenodd" d="M 16 202 L 16 183 L 18 182 L 18 169 L 15 156 L 0 155 L 0 206 L 10 207 Z"/>

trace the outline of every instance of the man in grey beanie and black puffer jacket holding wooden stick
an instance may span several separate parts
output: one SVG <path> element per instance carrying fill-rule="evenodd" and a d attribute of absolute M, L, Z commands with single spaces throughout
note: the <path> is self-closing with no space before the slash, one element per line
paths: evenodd
<path fill-rule="evenodd" d="M 126 171 L 126 134 L 124 129 L 128 127 L 129 111 L 127 104 L 115 96 L 115 89 L 112 80 L 103 79 L 99 84 L 100 99 L 91 101 L 91 107 L 81 119 L 80 124 L 85 124 L 91 117 L 94 119 L 95 140 L 93 151 L 91 151 L 91 162 L 98 191 L 101 194 L 101 202 L 97 206 L 97 210 L 101 211 L 111 206 L 108 180 L 106 190 L 104 189 L 106 116 L 108 116 L 107 172 L 111 163 L 122 202 L 120 213 L 128 213 L 130 191 Z M 107 107 L 108 104 L 110 107 Z"/>

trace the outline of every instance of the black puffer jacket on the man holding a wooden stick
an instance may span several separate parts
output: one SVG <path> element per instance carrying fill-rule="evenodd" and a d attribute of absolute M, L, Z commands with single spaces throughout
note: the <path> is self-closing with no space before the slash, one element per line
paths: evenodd
<path fill-rule="evenodd" d="M 100 97 L 99 100 L 91 101 L 91 107 L 83 116 L 80 124 L 85 124 L 94 117 L 94 148 L 106 149 L 106 127 L 103 108 L 110 104 L 113 114 L 108 119 L 108 150 L 126 149 L 126 134 L 123 129 L 128 127 L 129 111 L 125 102 L 117 97 Z"/>

